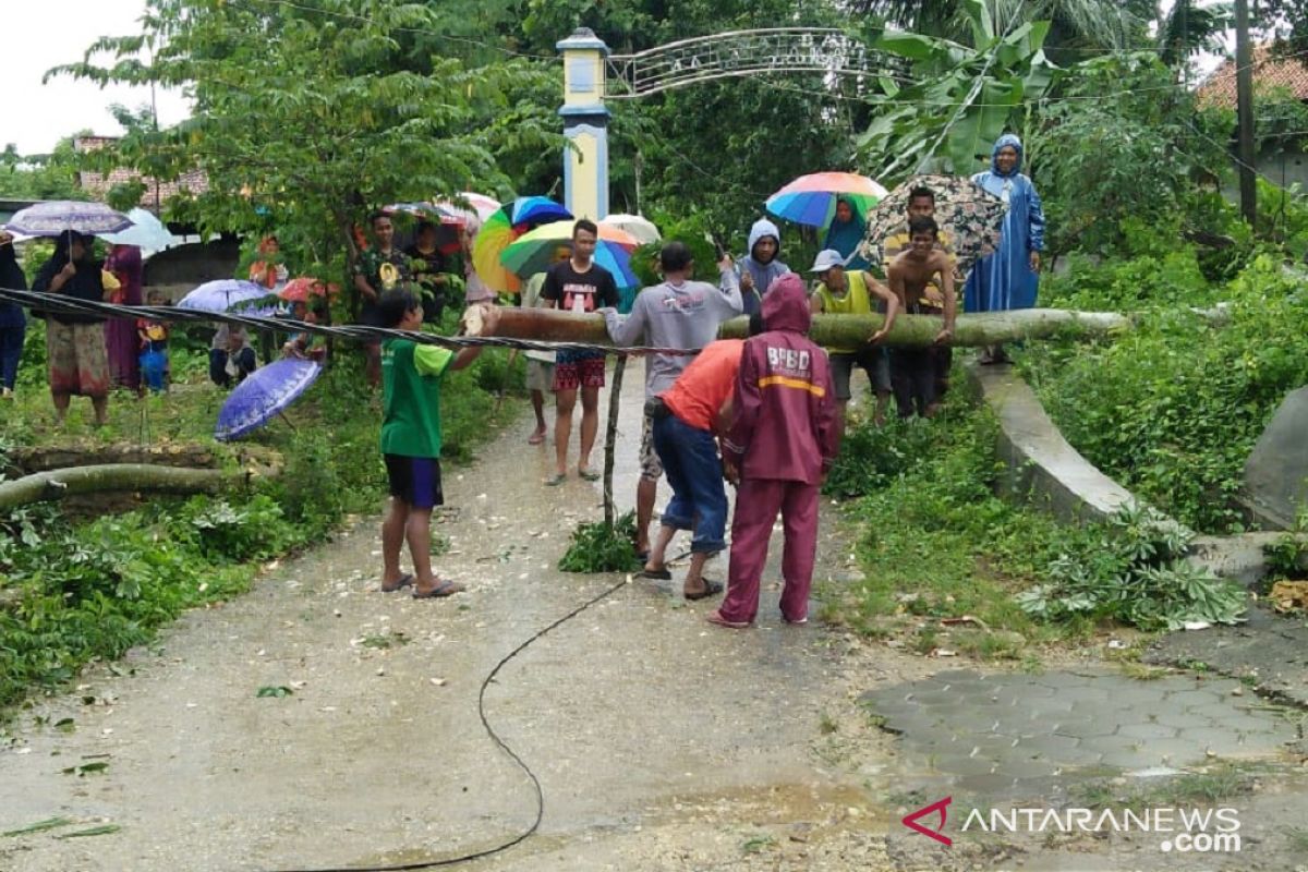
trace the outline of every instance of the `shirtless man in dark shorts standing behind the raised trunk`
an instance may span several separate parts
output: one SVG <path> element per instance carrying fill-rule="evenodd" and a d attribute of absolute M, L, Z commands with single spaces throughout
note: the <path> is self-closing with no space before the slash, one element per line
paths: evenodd
<path fill-rule="evenodd" d="M 933 348 L 892 348 L 891 387 L 895 405 L 901 418 L 913 414 L 914 407 L 922 417 L 931 417 L 939 409 L 937 401 L 937 369 L 940 349 L 954 339 L 954 316 L 957 301 L 954 294 L 954 263 L 935 247 L 940 229 L 935 218 L 914 217 L 908 224 L 912 244 L 891 261 L 886 278 L 891 293 L 899 297 L 903 310 L 912 315 L 931 315 L 938 310 L 925 306 L 927 285 L 935 278 L 944 297 L 944 324 Z"/>

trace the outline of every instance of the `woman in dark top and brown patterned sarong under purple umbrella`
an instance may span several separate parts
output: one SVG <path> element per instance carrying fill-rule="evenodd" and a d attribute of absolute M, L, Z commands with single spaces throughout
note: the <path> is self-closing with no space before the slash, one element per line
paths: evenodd
<path fill-rule="evenodd" d="M 105 282 L 99 264 L 92 258 L 92 238 L 76 230 L 63 233 L 55 243 L 54 256 L 37 273 L 31 289 L 89 302 L 103 301 Z M 90 397 L 97 426 L 106 422 L 109 353 L 105 348 L 103 320 L 94 315 L 68 312 L 50 312 L 46 316 L 50 395 L 60 424 L 68 414 L 73 395 Z"/>

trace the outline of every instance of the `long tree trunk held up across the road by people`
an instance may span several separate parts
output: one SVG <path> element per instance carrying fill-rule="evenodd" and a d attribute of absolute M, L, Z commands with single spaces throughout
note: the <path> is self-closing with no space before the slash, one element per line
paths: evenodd
<path fill-rule="evenodd" d="M 863 345 L 869 336 L 880 329 L 882 315 L 814 315 L 810 339 L 827 348 Z M 954 346 L 995 345 L 1027 339 L 1097 339 L 1116 331 L 1127 329 L 1130 319 L 1114 312 L 1076 312 L 1063 309 L 1016 309 L 1006 312 L 978 312 L 959 315 L 954 329 Z M 483 332 L 485 323 L 475 310 L 464 315 L 464 328 L 470 336 L 505 336 L 534 339 L 551 343 L 586 343 L 610 345 L 608 331 L 602 315 L 576 315 L 552 309 L 501 309 L 493 333 Z M 749 324 L 746 318 L 734 318 L 722 326 L 723 339 L 744 339 Z M 940 319 L 931 315 L 900 315 L 895 328 L 882 344 L 899 346 L 926 346 L 940 332 Z"/>

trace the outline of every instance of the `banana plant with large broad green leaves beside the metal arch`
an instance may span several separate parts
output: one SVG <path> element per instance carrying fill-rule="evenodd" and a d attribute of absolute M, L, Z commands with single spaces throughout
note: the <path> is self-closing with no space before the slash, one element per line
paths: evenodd
<path fill-rule="evenodd" d="M 1039 99 L 1061 71 L 1045 58 L 1048 21 L 995 27 L 984 0 L 964 0 L 972 46 L 887 30 L 872 47 L 899 56 L 910 85 L 878 80 L 869 103 L 875 120 L 855 137 L 859 166 L 882 183 L 914 173 L 969 174 L 994 140 L 1022 126 L 1023 107 Z"/>

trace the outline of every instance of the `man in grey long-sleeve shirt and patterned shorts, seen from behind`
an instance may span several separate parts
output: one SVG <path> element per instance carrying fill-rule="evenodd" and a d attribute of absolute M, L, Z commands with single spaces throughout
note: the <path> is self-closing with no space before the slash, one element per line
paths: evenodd
<path fill-rule="evenodd" d="M 644 337 L 655 348 L 700 349 L 717 339 L 718 326 L 744 310 L 740 281 L 730 256 L 718 263 L 722 280 L 717 288 L 705 281 L 692 281 L 695 261 L 684 242 L 670 242 L 659 252 L 662 284 L 646 288 L 636 297 L 632 314 L 625 319 L 613 309 L 603 309 L 610 339 L 616 345 L 634 345 Z M 645 365 L 645 399 L 672 387 L 676 377 L 689 366 L 689 354 L 655 354 Z M 650 557 L 649 526 L 658 497 L 658 480 L 663 475 L 654 450 L 654 422 L 646 405 L 641 428 L 641 478 L 636 485 L 636 552 Z M 647 578 L 671 578 L 667 567 L 646 563 Z"/>

